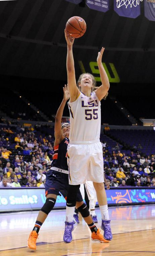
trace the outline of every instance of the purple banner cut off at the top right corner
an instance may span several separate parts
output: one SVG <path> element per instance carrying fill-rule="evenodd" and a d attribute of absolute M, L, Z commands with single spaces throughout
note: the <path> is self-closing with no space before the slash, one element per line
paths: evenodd
<path fill-rule="evenodd" d="M 155 0 L 144 0 L 144 14 L 149 21 L 155 21 Z"/>

